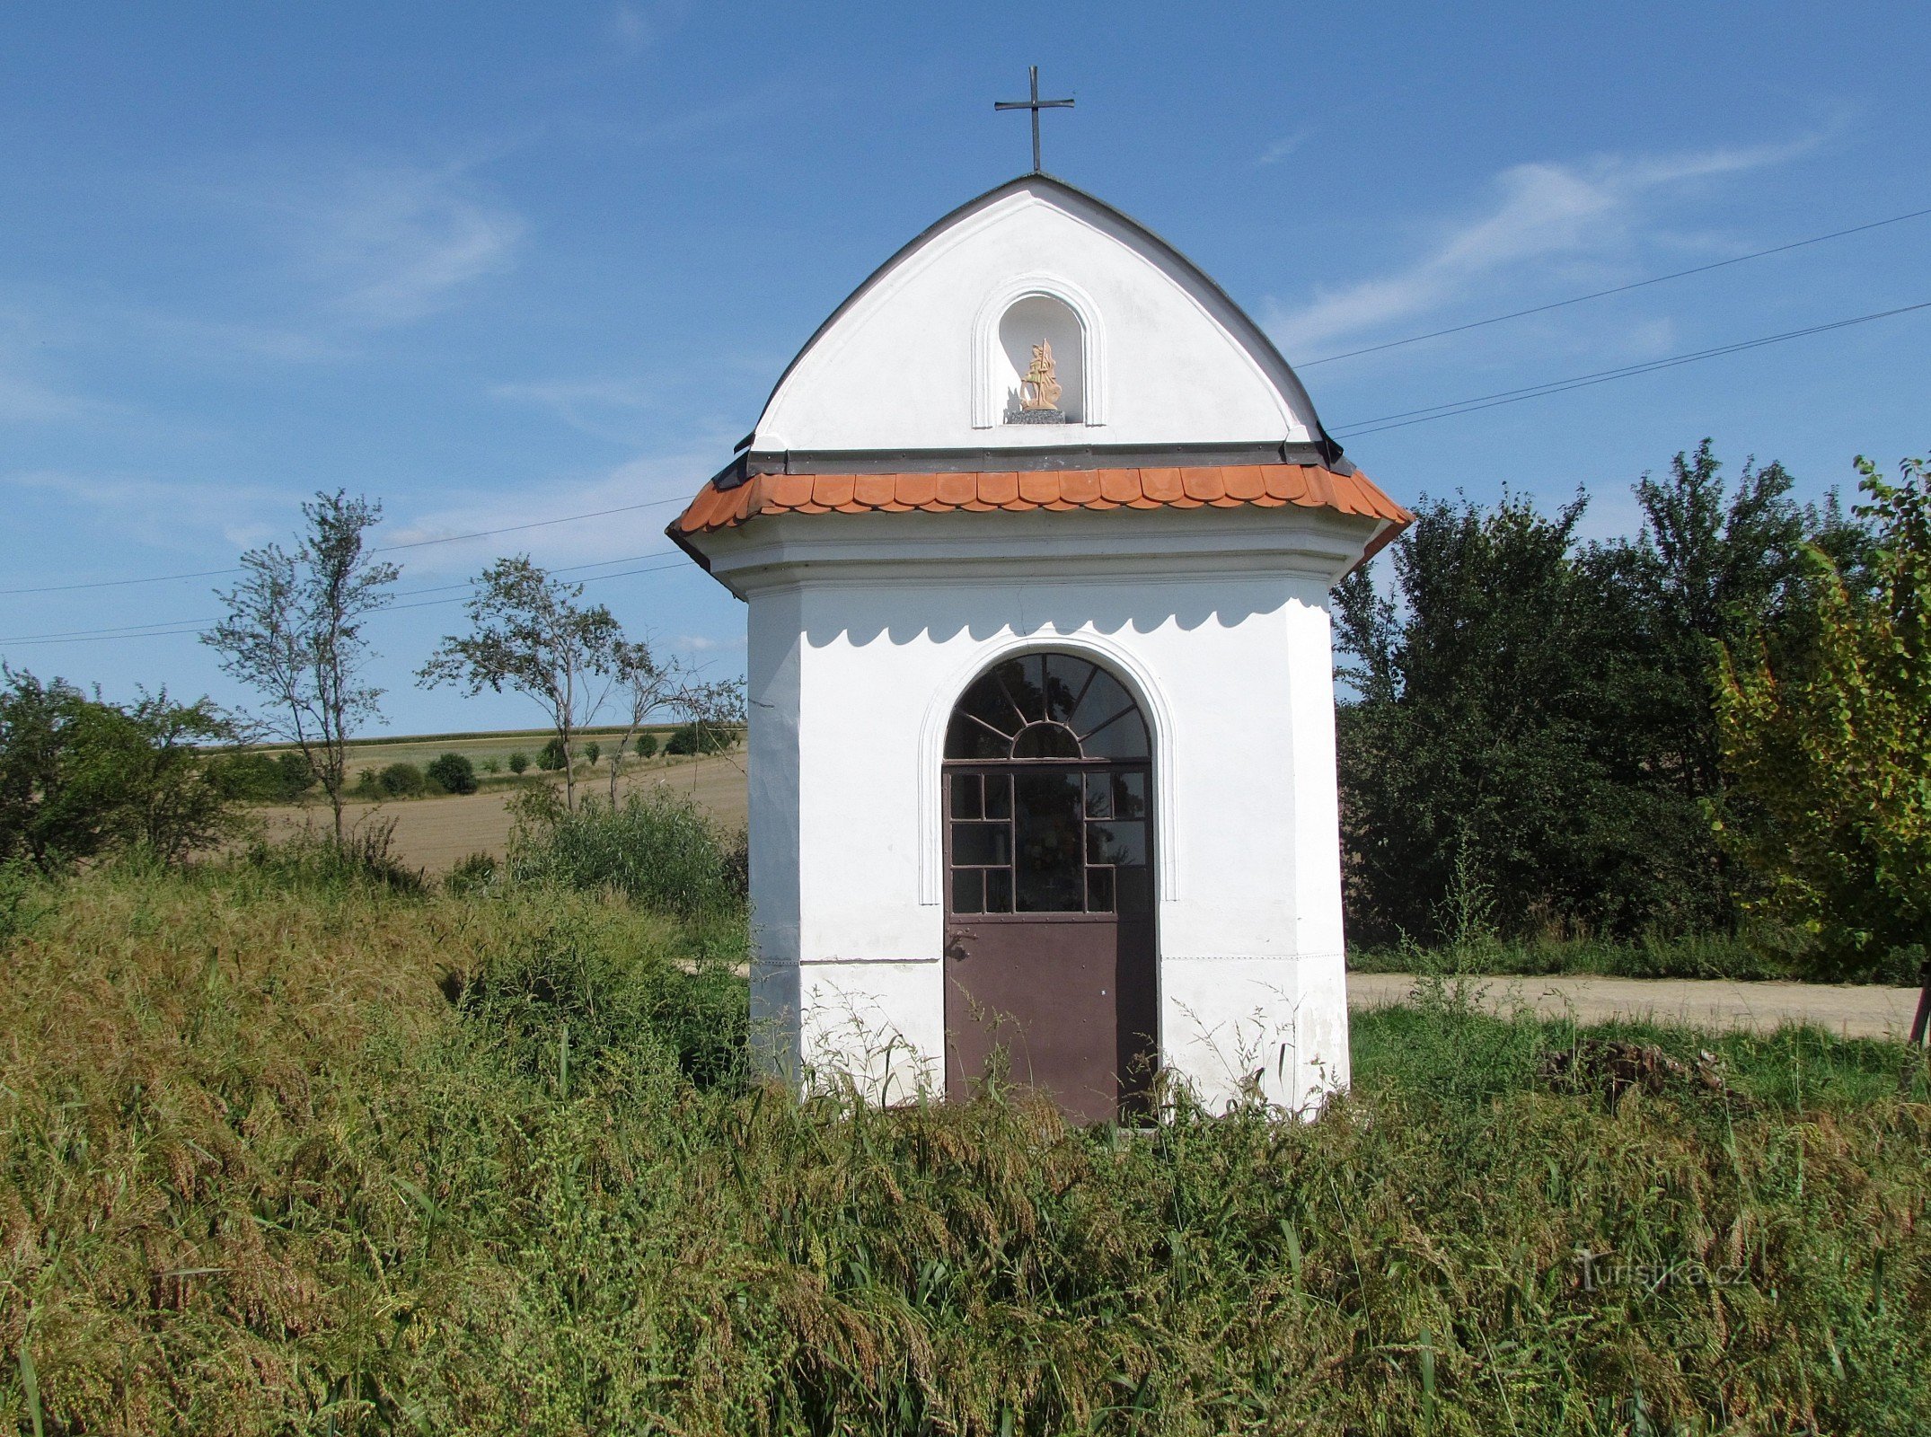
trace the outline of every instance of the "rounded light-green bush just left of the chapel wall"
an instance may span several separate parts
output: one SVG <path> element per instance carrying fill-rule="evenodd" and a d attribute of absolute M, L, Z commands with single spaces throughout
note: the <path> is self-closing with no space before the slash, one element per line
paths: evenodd
<path fill-rule="evenodd" d="M 618 807 L 585 800 L 570 813 L 550 788 L 518 800 L 510 871 L 519 881 L 616 888 L 645 908 L 701 917 L 745 904 L 743 840 L 670 788 Z"/>

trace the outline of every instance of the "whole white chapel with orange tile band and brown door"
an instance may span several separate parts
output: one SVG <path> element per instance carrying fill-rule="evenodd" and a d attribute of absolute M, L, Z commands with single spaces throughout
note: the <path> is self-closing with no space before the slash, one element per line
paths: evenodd
<path fill-rule="evenodd" d="M 1348 1082 L 1329 589 L 1410 514 L 1261 328 L 1029 174 L 892 255 L 670 525 L 747 605 L 751 1016 L 799 1082 Z"/>

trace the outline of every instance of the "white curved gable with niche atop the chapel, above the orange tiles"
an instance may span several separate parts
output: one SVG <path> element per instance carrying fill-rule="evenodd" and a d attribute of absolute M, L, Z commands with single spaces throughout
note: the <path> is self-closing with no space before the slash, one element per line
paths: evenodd
<path fill-rule="evenodd" d="M 1066 423 L 1016 421 L 1041 340 Z M 867 278 L 784 371 L 751 448 L 1282 442 L 1327 440 L 1261 328 L 1151 230 L 1035 174 L 960 207 Z"/>

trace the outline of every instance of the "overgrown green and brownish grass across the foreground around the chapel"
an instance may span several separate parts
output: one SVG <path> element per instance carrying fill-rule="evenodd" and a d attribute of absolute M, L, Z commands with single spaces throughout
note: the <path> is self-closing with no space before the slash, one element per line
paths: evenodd
<path fill-rule="evenodd" d="M 0 944 L 17 1431 L 1931 1429 L 1896 1045 L 1622 1029 L 1693 1078 L 1616 1101 L 1435 981 L 1319 1120 L 1132 1136 L 763 1087 L 738 919 L 554 883 L 14 877 Z"/>

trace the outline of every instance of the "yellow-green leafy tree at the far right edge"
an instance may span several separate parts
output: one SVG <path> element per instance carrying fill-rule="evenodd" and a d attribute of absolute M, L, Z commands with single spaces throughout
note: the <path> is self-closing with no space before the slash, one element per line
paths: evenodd
<path fill-rule="evenodd" d="M 1898 483 L 1858 473 L 1865 581 L 1811 547 L 1805 651 L 1724 645 L 1715 686 L 1719 838 L 1761 885 L 1746 900 L 1807 933 L 1825 972 L 1931 948 L 1931 496 L 1923 460 Z"/>

